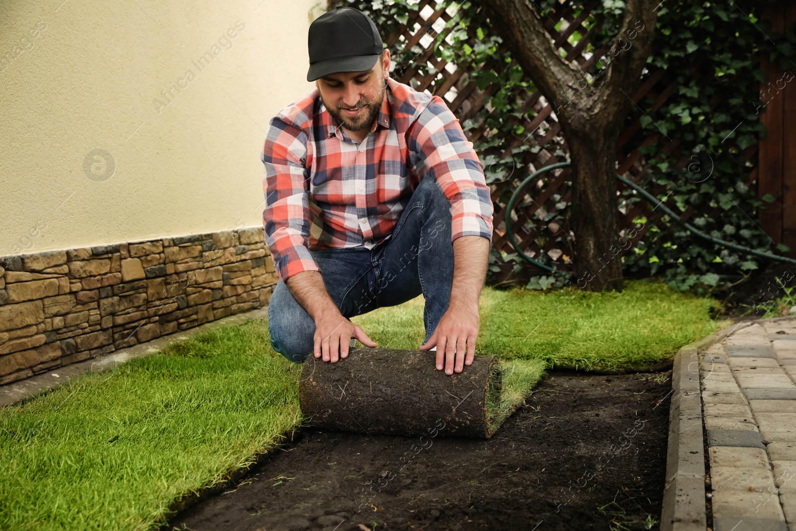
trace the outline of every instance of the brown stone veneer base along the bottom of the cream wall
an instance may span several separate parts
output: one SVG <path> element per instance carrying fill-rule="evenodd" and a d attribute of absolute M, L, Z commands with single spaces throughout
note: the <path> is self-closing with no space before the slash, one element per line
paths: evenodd
<path fill-rule="evenodd" d="M 262 228 L 0 258 L 0 384 L 265 306 Z"/>

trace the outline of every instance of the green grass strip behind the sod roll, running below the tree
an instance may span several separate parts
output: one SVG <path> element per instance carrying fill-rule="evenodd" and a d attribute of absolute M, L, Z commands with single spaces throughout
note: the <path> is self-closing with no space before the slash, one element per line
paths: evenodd
<path fill-rule="evenodd" d="M 726 326 L 710 318 L 715 306 L 646 281 L 626 282 L 622 293 L 485 287 L 476 352 L 539 360 L 548 368 L 649 369 Z M 416 349 L 424 339 L 423 297 L 351 320 L 380 347 Z"/>

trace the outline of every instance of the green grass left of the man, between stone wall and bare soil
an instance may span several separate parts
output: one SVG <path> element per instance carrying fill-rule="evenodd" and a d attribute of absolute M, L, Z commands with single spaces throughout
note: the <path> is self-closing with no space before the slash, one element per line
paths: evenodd
<path fill-rule="evenodd" d="M 251 322 L 0 409 L 0 529 L 158 529 L 301 422 L 300 369 Z"/>

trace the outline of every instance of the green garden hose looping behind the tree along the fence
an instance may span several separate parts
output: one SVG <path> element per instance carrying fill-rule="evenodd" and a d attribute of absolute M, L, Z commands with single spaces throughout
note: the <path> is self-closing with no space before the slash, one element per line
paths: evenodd
<path fill-rule="evenodd" d="M 517 189 L 514 190 L 514 193 L 511 195 L 511 199 L 509 199 L 509 205 L 507 205 L 507 207 L 506 207 L 508 210 L 507 210 L 506 215 L 505 215 L 505 234 L 506 234 L 506 236 L 509 239 L 509 244 L 511 244 L 511 246 L 514 248 L 514 250 L 517 251 L 517 254 L 519 256 L 521 256 L 523 258 L 523 260 L 527 260 L 528 262 L 530 262 L 531 264 L 533 264 L 533 265 L 535 265 L 537 267 L 540 267 L 540 268 L 542 268 L 542 269 L 544 269 L 546 271 L 550 271 L 552 273 L 555 273 L 556 275 L 563 275 L 566 278 L 570 278 L 570 277 L 572 277 L 574 275 L 572 275 L 572 273 L 568 273 L 566 271 L 560 271 L 559 269 L 556 269 L 554 267 L 550 267 L 550 266 L 548 266 L 546 264 L 542 264 L 540 261 L 533 260 L 533 258 L 531 258 L 530 256 L 526 255 L 525 252 L 522 252 L 522 250 L 517 246 L 517 241 L 514 240 L 514 233 L 511 230 L 511 213 L 513 212 L 514 204 L 517 202 L 517 199 L 520 197 L 520 193 L 522 192 L 522 189 L 524 189 L 525 186 L 527 186 L 530 182 L 532 182 L 534 178 L 537 178 L 538 175 L 544 174 L 544 173 L 546 173 L 548 171 L 558 170 L 559 168 L 566 168 L 566 167 L 569 167 L 569 166 L 572 166 L 572 162 L 558 162 L 556 164 L 551 164 L 550 166 L 544 166 L 544 168 L 541 168 L 540 170 L 537 170 L 537 171 L 533 172 L 533 174 L 530 174 L 527 178 L 525 178 L 525 180 L 523 182 L 520 183 L 519 186 L 517 186 Z M 622 181 L 625 185 L 630 186 L 630 188 L 636 190 L 647 201 L 650 201 L 650 203 L 658 203 L 657 207 L 655 207 L 655 208 L 660 207 L 661 210 L 663 210 L 665 213 L 669 214 L 669 217 L 672 217 L 672 219 L 674 221 L 677 221 L 677 223 L 679 225 L 682 225 L 683 227 L 687 228 L 689 231 L 693 232 L 694 234 L 696 234 L 696 236 L 699 236 L 703 240 L 708 240 L 709 242 L 711 242 L 713 244 L 718 244 L 718 245 L 722 245 L 724 247 L 736 249 L 736 251 L 748 252 L 751 255 L 760 256 L 761 258 L 767 258 L 769 260 L 777 260 L 779 262 L 785 262 L 786 264 L 794 264 L 794 265 L 796 265 L 796 260 L 794 260 L 792 258 L 787 258 L 786 256 L 778 256 L 778 255 L 772 255 L 769 252 L 756 251 L 755 249 L 743 247 L 743 245 L 733 244 L 732 242 L 729 242 L 729 241 L 719 240 L 718 238 L 714 238 L 712 236 L 708 236 L 707 234 L 705 234 L 704 232 L 700 231 L 699 229 L 697 229 L 693 225 L 690 225 L 689 223 L 686 223 L 685 221 L 682 221 L 680 219 L 680 217 L 677 216 L 676 213 L 673 213 L 672 210 L 670 210 L 668 207 L 666 207 L 666 205 L 663 204 L 663 201 L 658 201 L 657 197 L 655 197 L 651 193 L 647 192 L 646 189 L 643 189 L 641 186 L 637 185 L 636 183 L 631 182 L 631 181 L 627 180 L 626 178 L 623 178 L 619 174 L 616 175 L 616 178 L 618 178 L 619 181 Z"/>

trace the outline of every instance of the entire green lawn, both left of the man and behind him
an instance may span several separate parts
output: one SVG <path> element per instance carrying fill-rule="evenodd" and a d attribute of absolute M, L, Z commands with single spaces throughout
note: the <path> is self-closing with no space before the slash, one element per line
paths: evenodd
<path fill-rule="evenodd" d="M 720 328 L 712 303 L 658 284 L 621 294 L 494 291 L 478 353 L 501 357 L 501 408 L 545 367 L 654 364 Z M 423 342 L 423 299 L 353 318 L 379 343 Z M 252 321 L 0 409 L 0 529 L 157 529 L 181 497 L 213 486 L 301 423 L 300 366 Z"/>

